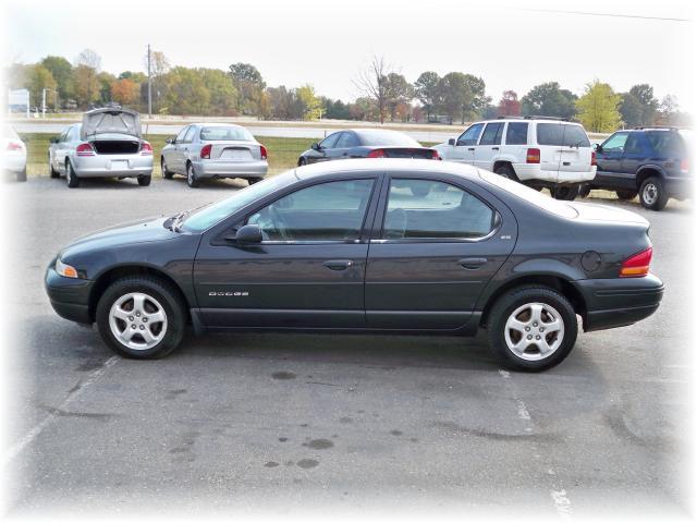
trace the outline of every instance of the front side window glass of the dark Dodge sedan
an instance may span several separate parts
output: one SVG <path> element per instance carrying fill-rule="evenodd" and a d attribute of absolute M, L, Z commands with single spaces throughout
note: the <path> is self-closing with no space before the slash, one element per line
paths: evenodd
<path fill-rule="evenodd" d="M 328 182 L 301 188 L 252 215 L 266 241 L 334 241 L 360 238 L 372 180 Z"/>

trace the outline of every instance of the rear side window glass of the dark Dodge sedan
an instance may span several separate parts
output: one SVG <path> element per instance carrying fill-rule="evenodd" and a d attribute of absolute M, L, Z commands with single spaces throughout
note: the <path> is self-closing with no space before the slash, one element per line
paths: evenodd
<path fill-rule="evenodd" d="M 430 180 L 390 183 L 384 240 L 481 238 L 494 226 L 496 212 L 460 187 Z"/>

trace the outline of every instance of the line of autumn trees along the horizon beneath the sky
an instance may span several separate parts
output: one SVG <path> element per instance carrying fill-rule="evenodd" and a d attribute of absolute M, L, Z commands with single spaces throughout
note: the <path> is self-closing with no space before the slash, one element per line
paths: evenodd
<path fill-rule="evenodd" d="M 7 87 L 27 88 L 32 106 L 40 106 L 47 89 L 47 106 L 53 110 L 84 110 L 108 102 L 147 111 L 147 75 L 101 70 L 100 57 L 83 50 L 73 62 L 48 56 L 33 64 L 5 68 Z M 659 100 L 648 84 L 626 93 L 595 80 L 580 96 L 558 82 L 533 87 L 523 97 L 505 90 L 498 102 L 486 94 L 485 81 L 463 72 L 440 76 L 426 71 L 413 83 L 383 57 L 374 57 L 353 81 L 358 96 L 344 102 L 320 96 L 311 84 L 299 87 L 267 86 L 249 63 L 232 63 L 227 71 L 172 66 L 160 51 L 151 53 L 150 82 L 156 114 L 205 117 L 253 115 L 269 120 L 317 120 L 465 123 L 502 115 L 545 115 L 576 119 L 588 131 L 609 132 L 621 126 L 688 123 L 676 99 Z"/>

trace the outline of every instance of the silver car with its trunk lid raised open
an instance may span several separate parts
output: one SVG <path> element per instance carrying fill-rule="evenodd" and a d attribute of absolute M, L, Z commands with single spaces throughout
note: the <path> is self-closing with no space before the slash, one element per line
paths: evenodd
<path fill-rule="evenodd" d="M 82 123 L 52 138 L 48 165 L 51 178 L 64 175 L 69 187 L 85 178 L 136 178 L 149 185 L 152 147 L 140 136 L 137 112 L 110 106 L 85 112 Z"/>

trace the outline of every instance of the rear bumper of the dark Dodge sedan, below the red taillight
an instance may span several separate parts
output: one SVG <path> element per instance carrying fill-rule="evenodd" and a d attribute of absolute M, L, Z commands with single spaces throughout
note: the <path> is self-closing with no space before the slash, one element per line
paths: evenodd
<path fill-rule="evenodd" d="M 576 280 L 586 302 L 584 330 L 612 329 L 648 318 L 663 297 L 663 282 L 653 275 L 641 278 Z"/>

